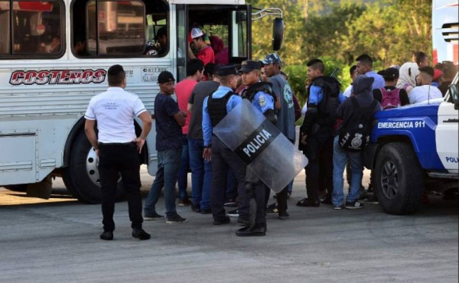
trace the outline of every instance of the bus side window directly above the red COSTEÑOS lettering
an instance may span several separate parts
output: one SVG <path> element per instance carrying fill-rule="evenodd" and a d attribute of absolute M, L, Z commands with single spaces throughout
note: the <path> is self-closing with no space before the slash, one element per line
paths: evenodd
<path fill-rule="evenodd" d="M 163 57 L 169 51 L 163 0 L 75 0 L 71 9 L 76 57 Z"/>

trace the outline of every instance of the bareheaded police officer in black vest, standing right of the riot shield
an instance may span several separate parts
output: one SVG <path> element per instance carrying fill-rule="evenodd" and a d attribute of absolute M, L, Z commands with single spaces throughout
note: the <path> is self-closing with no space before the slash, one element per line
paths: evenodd
<path fill-rule="evenodd" d="M 326 180 L 327 200 L 331 204 L 333 191 L 333 134 L 337 122 L 336 110 L 345 100 L 339 90 L 339 82 L 323 75 L 325 66 L 319 59 L 307 63 L 308 88 L 307 111 L 300 128 L 300 149 L 309 160 L 306 166 L 306 190 L 308 198 L 297 202 L 298 206 L 320 205 L 319 182 Z M 320 172 L 320 170 L 324 172 Z"/>

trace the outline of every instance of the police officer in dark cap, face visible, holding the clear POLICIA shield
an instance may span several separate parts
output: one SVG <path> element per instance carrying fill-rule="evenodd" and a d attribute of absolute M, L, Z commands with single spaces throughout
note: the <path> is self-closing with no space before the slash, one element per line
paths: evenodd
<path fill-rule="evenodd" d="M 277 117 L 274 111 L 276 101 L 270 82 L 260 82 L 261 63 L 257 61 L 243 61 L 240 72 L 242 73 L 242 84 L 247 88 L 242 92 L 242 97 L 249 100 L 266 118 L 276 124 Z M 265 194 L 269 197 L 269 187 L 267 187 L 253 172 L 247 167 L 246 189 L 249 198 L 254 198 L 256 202 L 255 219 L 250 226 L 239 229 L 237 236 L 264 236 L 266 233 L 265 216 Z M 240 198 L 239 198 L 240 199 Z"/>

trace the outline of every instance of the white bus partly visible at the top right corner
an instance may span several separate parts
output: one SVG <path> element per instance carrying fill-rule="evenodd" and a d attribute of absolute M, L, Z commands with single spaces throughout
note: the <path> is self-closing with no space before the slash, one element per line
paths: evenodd
<path fill-rule="evenodd" d="M 434 65 L 459 64 L 459 0 L 433 0 L 432 43 Z"/>

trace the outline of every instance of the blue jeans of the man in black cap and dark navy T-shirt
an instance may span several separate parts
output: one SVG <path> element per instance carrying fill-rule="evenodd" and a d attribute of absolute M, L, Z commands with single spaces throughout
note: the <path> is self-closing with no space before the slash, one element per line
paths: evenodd
<path fill-rule="evenodd" d="M 181 153 L 181 148 L 158 151 L 158 171 L 145 201 L 145 216 L 151 215 L 156 211 L 155 205 L 160 198 L 162 187 L 164 187 L 166 217 L 177 214 L 175 208 L 175 183 L 177 182 Z"/>

